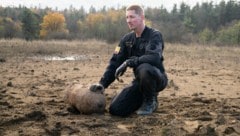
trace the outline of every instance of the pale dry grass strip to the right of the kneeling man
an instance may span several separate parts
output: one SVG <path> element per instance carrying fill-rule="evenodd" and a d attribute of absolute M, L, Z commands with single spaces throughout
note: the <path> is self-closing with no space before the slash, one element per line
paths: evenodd
<path fill-rule="evenodd" d="M 168 59 L 181 58 L 185 61 L 211 60 L 216 61 L 229 60 L 240 63 L 239 47 L 218 47 L 214 45 L 203 46 L 199 44 L 182 45 L 182 44 L 166 44 L 164 56 Z"/>

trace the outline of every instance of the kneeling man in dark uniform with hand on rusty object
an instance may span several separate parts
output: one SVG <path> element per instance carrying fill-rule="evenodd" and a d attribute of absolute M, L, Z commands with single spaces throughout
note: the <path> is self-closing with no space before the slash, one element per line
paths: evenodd
<path fill-rule="evenodd" d="M 167 86 L 168 79 L 162 63 L 162 35 L 146 26 L 144 20 L 144 11 L 139 5 L 127 7 L 126 21 L 132 32 L 121 39 L 99 81 L 100 86 L 107 88 L 127 68 L 133 69 L 135 78 L 132 83 L 110 104 L 112 115 L 128 116 L 135 111 L 139 115 L 153 113 L 158 107 L 158 93 Z M 99 84 L 91 88 L 97 88 Z"/>

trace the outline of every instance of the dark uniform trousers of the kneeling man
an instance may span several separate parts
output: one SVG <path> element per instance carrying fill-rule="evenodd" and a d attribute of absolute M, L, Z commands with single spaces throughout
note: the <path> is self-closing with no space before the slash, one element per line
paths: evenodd
<path fill-rule="evenodd" d="M 135 79 L 112 100 L 109 112 L 112 115 L 128 116 L 139 109 L 144 98 L 157 97 L 168 83 L 164 72 L 144 63 L 134 70 Z M 157 99 L 157 98 L 156 98 Z"/>

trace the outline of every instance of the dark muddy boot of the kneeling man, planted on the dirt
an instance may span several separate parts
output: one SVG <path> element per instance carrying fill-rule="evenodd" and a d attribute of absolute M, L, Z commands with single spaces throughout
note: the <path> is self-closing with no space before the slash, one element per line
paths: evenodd
<path fill-rule="evenodd" d="M 152 114 L 158 108 L 157 95 L 144 98 L 142 106 L 137 110 L 138 115 Z"/>

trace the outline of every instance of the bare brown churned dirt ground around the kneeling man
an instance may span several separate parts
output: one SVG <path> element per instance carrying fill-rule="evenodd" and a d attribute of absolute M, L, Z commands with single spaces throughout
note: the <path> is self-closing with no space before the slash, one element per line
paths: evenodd
<path fill-rule="evenodd" d="M 169 84 L 158 96 L 157 111 L 125 118 L 111 116 L 108 106 L 132 80 L 131 69 L 121 77 L 123 83 L 115 81 L 106 89 L 103 115 L 80 114 L 63 99 L 67 84 L 99 81 L 109 50 L 84 48 L 61 54 L 78 55 L 77 60 L 0 55 L 0 135 L 238 136 L 239 54 L 236 47 L 166 44 Z"/>

